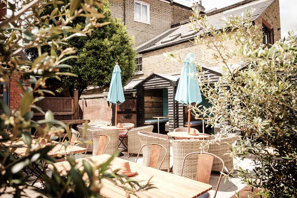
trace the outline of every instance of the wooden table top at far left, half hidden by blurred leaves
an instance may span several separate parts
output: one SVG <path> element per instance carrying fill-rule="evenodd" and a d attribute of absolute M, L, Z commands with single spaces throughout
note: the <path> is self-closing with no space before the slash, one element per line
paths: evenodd
<path fill-rule="evenodd" d="M 58 142 L 55 142 L 55 141 L 52 141 L 52 142 L 53 143 L 58 143 Z M 4 142 L 3 144 L 6 145 L 6 146 L 10 145 L 9 142 Z M 18 154 L 18 155 L 21 155 L 21 156 L 26 155 L 26 151 L 27 151 L 28 147 L 26 147 L 25 142 L 23 142 L 23 141 L 15 142 L 14 145 L 24 145 L 25 147 L 17 148 L 17 149 L 15 149 L 14 152 L 16 154 Z M 32 148 L 34 148 L 34 147 L 37 147 L 38 145 L 35 143 L 34 140 L 32 140 L 32 145 L 31 146 L 32 146 Z M 86 148 L 82 148 L 82 147 L 79 147 L 79 146 L 68 145 L 67 148 L 65 149 L 65 147 L 63 145 L 58 144 L 51 151 L 48 152 L 48 155 L 52 156 L 52 157 L 57 157 L 58 154 L 67 155 L 67 154 L 70 154 L 70 153 L 83 153 L 85 151 L 86 151 Z"/>

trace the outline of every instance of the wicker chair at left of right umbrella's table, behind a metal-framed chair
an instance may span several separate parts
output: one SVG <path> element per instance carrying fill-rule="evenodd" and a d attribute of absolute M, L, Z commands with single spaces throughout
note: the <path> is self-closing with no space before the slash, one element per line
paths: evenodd
<path fill-rule="evenodd" d="M 162 145 L 166 148 L 167 151 L 170 151 L 170 142 L 169 142 L 168 135 L 141 131 L 141 132 L 138 132 L 138 136 L 140 139 L 141 146 L 154 143 L 154 144 Z M 142 151 L 143 151 L 142 164 L 145 166 L 148 166 L 150 154 L 151 154 L 151 145 L 143 147 Z M 165 151 L 164 149 L 161 150 L 161 154 L 159 156 L 157 167 L 159 167 L 161 165 L 161 162 L 162 162 L 161 159 L 166 155 L 167 151 Z M 160 170 L 168 170 L 168 172 L 169 172 L 169 170 L 170 170 L 170 154 L 169 154 L 169 152 L 165 156 L 165 160 L 159 169 Z"/>

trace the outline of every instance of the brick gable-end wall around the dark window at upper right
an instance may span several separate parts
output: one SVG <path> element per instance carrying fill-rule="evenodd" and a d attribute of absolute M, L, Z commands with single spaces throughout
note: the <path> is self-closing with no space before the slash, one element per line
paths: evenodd
<path fill-rule="evenodd" d="M 256 20 L 255 25 L 259 26 L 262 31 L 262 20 L 265 20 L 271 25 L 274 33 L 274 42 L 281 39 L 280 30 L 280 15 L 279 15 L 279 0 L 275 0 Z"/>

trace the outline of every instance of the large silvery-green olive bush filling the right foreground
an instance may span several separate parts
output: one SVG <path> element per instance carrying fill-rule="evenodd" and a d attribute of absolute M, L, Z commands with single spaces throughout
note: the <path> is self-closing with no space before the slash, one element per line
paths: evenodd
<path fill-rule="evenodd" d="M 191 106 L 194 114 L 207 118 L 208 125 L 221 126 L 222 135 L 241 132 L 229 154 L 254 162 L 252 171 L 236 167 L 244 183 L 262 189 L 259 194 L 266 197 L 297 197 L 297 36 L 291 33 L 266 46 L 251 12 L 226 19 L 220 30 L 209 26 L 207 19 L 198 11 L 191 18 L 191 28 L 203 30 L 194 42 L 214 50 L 213 57 L 224 66 L 213 83 L 204 75 L 203 65 L 197 65 L 196 77 L 211 107 Z M 234 49 L 225 47 L 230 42 Z M 246 66 L 230 68 L 232 58 Z"/>

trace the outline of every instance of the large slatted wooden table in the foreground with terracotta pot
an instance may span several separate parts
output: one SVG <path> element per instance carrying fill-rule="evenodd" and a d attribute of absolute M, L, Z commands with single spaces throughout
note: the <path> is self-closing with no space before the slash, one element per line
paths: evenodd
<path fill-rule="evenodd" d="M 83 169 L 82 161 L 83 160 L 93 160 L 94 163 L 100 164 L 102 162 L 107 161 L 110 158 L 110 155 L 103 154 L 99 156 L 92 156 L 88 158 L 80 158 L 76 159 L 75 161 L 78 163 L 78 167 Z M 126 161 L 121 158 L 115 158 L 111 162 L 112 168 L 117 168 L 120 166 L 121 162 Z M 90 162 L 92 164 L 92 162 Z M 179 197 L 179 198 L 186 198 L 186 197 L 197 197 L 209 190 L 212 189 L 212 186 L 206 183 L 198 182 L 195 180 L 191 180 L 188 178 L 184 178 L 178 175 L 173 175 L 171 173 L 161 171 L 158 169 L 154 169 L 151 167 L 145 167 L 142 164 L 136 164 L 135 162 L 129 161 L 130 167 L 132 169 L 137 170 L 137 173 L 129 178 L 134 180 L 149 180 L 151 176 L 151 183 L 154 184 L 157 189 L 149 189 L 148 191 L 140 191 L 136 193 L 138 197 L 156 197 L 156 198 L 163 198 L 163 197 Z M 70 165 L 68 161 L 63 161 L 59 163 L 55 163 L 54 166 L 57 168 L 59 172 L 65 174 L 66 171 L 70 170 Z M 53 165 L 50 164 L 49 168 L 53 168 Z M 83 176 L 83 178 L 87 178 L 87 174 Z M 100 189 L 100 195 L 103 197 L 119 197 L 125 198 L 126 192 L 116 186 L 113 182 L 107 179 L 102 179 L 102 188 Z M 130 195 L 130 197 L 136 197 L 134 195 Z"/>

